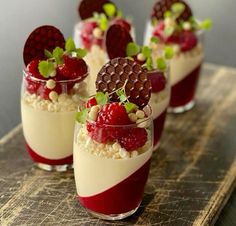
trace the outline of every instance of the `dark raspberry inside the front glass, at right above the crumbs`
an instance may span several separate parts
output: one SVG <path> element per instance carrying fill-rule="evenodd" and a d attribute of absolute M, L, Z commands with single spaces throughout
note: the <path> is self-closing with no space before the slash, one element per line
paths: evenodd
<path fill-rule="evenodd" d="M 118 139 L 119 144 L 126 151 L 134 151 L 145 145 L 147 141 L 147 131 L 144 128 L 131 128 Z"/>

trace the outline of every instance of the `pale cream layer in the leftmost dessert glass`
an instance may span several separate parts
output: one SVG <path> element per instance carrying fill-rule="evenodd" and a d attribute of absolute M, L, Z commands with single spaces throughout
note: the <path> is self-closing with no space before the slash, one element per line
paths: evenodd
<path fill-rule="evenodd" d="M 52 160 L 72 155 L 75 111 L 48 112 L 22 100 L 21 117 L 26 142 L 38 155 Z"/>

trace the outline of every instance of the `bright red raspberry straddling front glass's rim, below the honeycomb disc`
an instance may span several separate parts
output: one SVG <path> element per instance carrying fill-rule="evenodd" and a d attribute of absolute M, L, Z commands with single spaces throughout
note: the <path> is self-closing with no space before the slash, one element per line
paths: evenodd
<path fill-rule="evenodd" d="M 87 130 L 92 139 L 99 143 L 112 142 L 123 134 L 124 129 L 117 125 L 128 125 L 131 121 L 126 109 L 119 103 L 104 105 L 98 112 L 97 121 L 88 123 Z M 114 125 L 114 127 L 111 127 Z"/>

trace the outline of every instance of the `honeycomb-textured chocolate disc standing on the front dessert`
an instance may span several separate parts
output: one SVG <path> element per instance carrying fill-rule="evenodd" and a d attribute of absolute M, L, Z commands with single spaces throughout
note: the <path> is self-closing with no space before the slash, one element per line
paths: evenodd
<path fill-rule="evenodd" d="M 96 81 L 97 91 L 111 94 L 125 85 L 128 100 L 139 107 L 145 107 L 151 96 L 151 82 L 146 69 L 127 58 L 115 58 L 103 66 Z M 112 101 L 119 101 L 116 93 Z"/>

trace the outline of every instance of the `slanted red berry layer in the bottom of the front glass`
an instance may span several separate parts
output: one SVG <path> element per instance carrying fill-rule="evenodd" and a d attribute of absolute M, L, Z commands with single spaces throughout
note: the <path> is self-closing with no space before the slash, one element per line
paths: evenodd
<path fill-rule="evenodd" d="M 101 214 L 121 214 L 136 209 L 142 201 L 150 159 L 136 172 L 108 190 L 89 197 L 78 196 L 87 209 Z"/>

